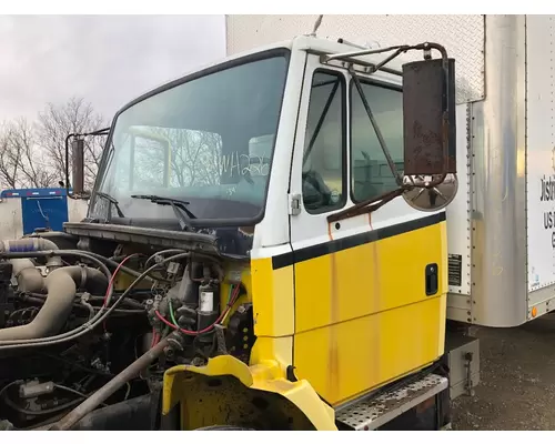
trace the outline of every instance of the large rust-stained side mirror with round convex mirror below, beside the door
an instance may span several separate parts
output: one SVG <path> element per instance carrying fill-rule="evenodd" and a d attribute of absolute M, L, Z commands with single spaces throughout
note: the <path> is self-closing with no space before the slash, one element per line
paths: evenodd
<path fill-rule="evenodd" d="M 403 65 L 405 201 L 421 211 L 448 205 L 457 192 L 455 61 Z"/>

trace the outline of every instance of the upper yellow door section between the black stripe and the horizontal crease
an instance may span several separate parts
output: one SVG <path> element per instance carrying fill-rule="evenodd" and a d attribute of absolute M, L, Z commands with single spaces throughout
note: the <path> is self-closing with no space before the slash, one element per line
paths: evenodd
<path fill-rule="evenodd" d="M 446 293 L 445 222 L 295 263 L 295 332 L 392 310 L 428 299 L 425 266 L 440 266 Z M 371 235 L 372 232 L 363 233 Z M 349 244 L 352 238 L 333 241 Z M 331 242 L 332 244 L 332 242 Z"/>

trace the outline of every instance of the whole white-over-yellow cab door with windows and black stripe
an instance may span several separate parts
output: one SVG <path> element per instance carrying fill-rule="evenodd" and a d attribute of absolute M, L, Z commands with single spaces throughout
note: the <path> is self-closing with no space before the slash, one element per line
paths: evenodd
<path fill-rule="evenodd" d="M 403 163 L 400 79 L 362 79 L 394 162 Z M 395 83 L 397 82 L 397 83 Z M 294 366 L 332 405 L 443 353 L 445 294 L 426 294 L 427 264 L 446 258 L 444 215 L 396 198 L 372 214 L 327 216 L 396 188 L 349 71 L 309 56 L 295 138 L 291 215 Z M 442 287 L 442 286 L 440 286 Z M 443 317 L 442 317 L 443 316 Z"/>

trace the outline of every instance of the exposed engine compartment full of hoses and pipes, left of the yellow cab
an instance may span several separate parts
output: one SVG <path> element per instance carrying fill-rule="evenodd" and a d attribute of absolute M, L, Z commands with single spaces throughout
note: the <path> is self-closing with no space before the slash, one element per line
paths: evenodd
<path fill-rule="evenodd" d="M 0 424 L 8 428 L 104 427 L 105 410 L 127 417 L 128 428 L 150 430 L 167 369 L 219 354 L 249 363 L 255 337 L 245 258 L 95 234 L 0 242 Z"/>

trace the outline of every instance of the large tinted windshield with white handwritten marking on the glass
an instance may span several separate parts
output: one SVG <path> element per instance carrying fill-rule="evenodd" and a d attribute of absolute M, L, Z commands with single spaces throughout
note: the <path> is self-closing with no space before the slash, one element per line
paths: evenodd
<path fill-rule="evenodd" d="M 133 195 L 186 201 L 198 220 L 233 224 L 260 216 L 286 69 L 280 53 L 128 108 L 115 121 L 98 190 L 114 198 L 125 218 L 174 219 L 169 205 Z"/>

